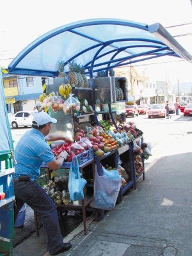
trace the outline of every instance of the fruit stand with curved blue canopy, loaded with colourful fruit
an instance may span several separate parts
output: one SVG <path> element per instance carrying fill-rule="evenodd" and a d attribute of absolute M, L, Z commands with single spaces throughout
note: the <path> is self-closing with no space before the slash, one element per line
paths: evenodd
<path fill-rule="evenodd" d="M 74 22 L 40 36 L 8 67 L 10 74 L 54 77 L 52 82 L 47 80 L 40 101 L 58 120 L 51 132 L 66 134 L 74 138 L 74 143 L 52 143 L 56 157 L 62 150 L 68 152 L 68 157 L 59 172 L 51 172 L 53 182 L 45 189 L 58 208 L 83 209 L 85 234 L 85 207 L 92 201 L 84 203 L 85 196 L 91 195 L 94 204 L 96 198 L 93 163 L 100 176 L 106 173 L 108 179 L 120 180 L 115 198 L 118 202 L 127 189 L 136 189 L 136 180 L 141 176 L 145 179 L 147 144 L 143 143 L 143 132 L 134 123 L 125 122 L 127 79 L 116 77 L 114 68 L 166 55 L 191 60 L 161 24 L 155 25 L 117 19 Z M 57 185 L 61 174 L 67 177 L 71 172 L 74 157 L 87 181 L 84 199 L 77 204 L 71 202 L 66 187 Z M 103 214 L 105 207 L 96 208 Z"/>

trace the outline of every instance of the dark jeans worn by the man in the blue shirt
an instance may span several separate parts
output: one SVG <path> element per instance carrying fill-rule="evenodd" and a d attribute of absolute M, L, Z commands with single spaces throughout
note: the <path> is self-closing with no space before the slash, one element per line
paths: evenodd
<path fill-rule="evenodd" d="M 15 180 L 15 199 L 15 217 L 22 205 L 26 203 L 42 218 L 49 252 L 55 253 L 63 248 L 63 236 L 61 235 L 56 206 L 44 189 L 35 181 Z"/>

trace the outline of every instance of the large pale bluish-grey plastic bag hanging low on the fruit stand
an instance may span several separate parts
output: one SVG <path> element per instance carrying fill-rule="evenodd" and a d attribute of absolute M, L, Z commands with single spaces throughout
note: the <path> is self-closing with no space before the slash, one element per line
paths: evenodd
<path fill-rule="evenodd" d="M 111 177 L 114 177 L 113 174 L 112 171 Z M 116 175 L 117 179 L 111 179 L 111 177 L 109 175 L 106 177 L 105 173 L 99 176 L 97 165 L 95 164 L 94 195 L 91 207 L 103 210 L 111 210 L 115 207 L 122 179 L 120 175 Z"/>

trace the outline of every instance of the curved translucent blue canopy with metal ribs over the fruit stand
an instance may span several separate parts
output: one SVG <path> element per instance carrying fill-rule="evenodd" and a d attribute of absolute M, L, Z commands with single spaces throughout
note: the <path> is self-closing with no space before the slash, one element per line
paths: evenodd
<path fill-rule="evenodd" d="M 148 26 L 119 19 L 81 20 L 37 38 L 10 63 L 8 70 L 10 74 L 55 77 L 58 61 L 65 61 L 65 72 L 68 72 L 68 62 L 75 60 L 92 77 L 99 70 L 166 55 L 192 60 L 161 24 Z"/>

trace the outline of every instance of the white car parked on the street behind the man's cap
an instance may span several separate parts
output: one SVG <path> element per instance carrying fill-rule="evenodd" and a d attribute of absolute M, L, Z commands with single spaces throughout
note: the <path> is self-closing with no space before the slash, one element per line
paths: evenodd
<path fill-rule="evenodd" d="M 15 113 L 15 115 L 8 116 L 10 125 L 12 125 L 13 128 L 31 126 L 35 114 L 34 111 L 19 111 Z"/>

